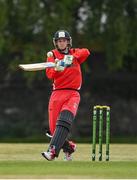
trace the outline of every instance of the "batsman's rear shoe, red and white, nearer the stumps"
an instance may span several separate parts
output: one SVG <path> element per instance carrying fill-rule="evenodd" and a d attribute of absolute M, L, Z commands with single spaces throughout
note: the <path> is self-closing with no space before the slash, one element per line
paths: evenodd
<path fill-rule="evenodd" d="M 70 148 L 72 149 L 71 152 L 64 152 L 64 161 L 72 161 L 72 153 L 76 151 L 76 144 L 72 141 L 69 141 Z"/>

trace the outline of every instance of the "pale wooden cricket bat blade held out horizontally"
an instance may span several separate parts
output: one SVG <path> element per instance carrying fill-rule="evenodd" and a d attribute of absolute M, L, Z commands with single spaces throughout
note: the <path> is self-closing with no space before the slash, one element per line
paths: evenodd
<path fill-rule="evenodd" d="M 19 68 L 24 71 L 40 71 L 46 68 L 55 67 L 55 63 L 53 62 L 45 62 L 45 63 L 34 63 L 34 64 L 19 64 Z"/>

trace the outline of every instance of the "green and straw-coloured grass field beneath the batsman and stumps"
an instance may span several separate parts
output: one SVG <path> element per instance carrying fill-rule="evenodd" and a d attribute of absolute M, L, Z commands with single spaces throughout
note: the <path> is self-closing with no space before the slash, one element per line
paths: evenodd
<path fill-rule="evenodd" d="M 47 144 L 1 143 L 0 179 L 137 178 L 137 144 L 111 144 L 109 162 L 92 162 L 91 144 L 78 144 L 72 162 L 64 162 L 62 152 L 55 161 L 47 161 L 40 154 L 46 149 Z"/>

